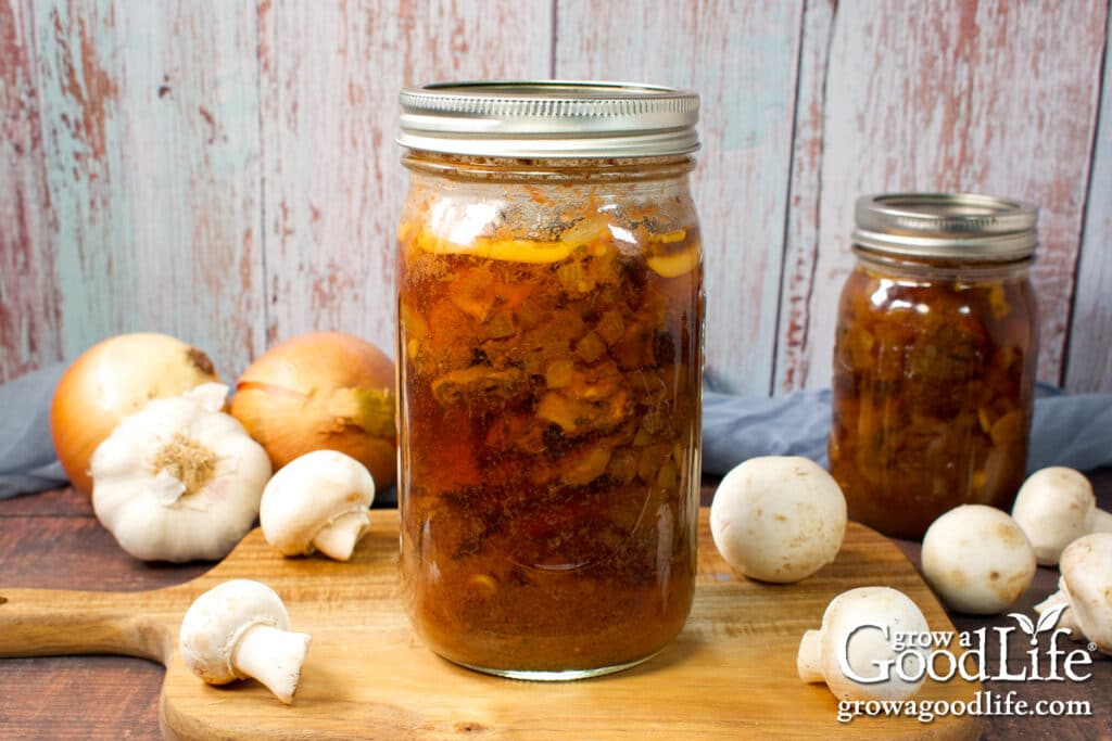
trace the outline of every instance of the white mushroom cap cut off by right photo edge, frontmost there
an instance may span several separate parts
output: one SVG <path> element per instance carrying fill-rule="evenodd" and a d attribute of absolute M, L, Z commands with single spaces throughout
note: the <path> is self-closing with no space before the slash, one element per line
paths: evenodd
<path fill-rule="evenodd" d="M 1112 653 L 1112 533 L 1094 532 L 1070 543 L 1059 564 L 1070 612 L 1081 632 Z"/>

